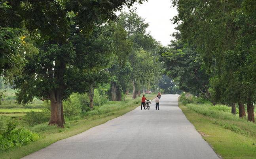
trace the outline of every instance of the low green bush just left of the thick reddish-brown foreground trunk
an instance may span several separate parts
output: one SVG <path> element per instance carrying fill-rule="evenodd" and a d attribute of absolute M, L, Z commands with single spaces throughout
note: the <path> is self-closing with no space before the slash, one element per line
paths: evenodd
<path fill-rule="evenodd" d="M 27 112 L 25 116 L 25 122 L 29 126 L 34 126 L 50 120 L 51 112 L 48 109 L 43 109 L 41 112 Z"/>

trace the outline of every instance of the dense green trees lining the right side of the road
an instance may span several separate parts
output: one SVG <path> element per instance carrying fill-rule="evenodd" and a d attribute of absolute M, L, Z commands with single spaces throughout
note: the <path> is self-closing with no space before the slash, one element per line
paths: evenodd
<path fill-rule="evenodd" d="M 252 0 L 173 0 L 175 41 L 161 50 L 180 89 L 255 122 L 256 5 Z M 246 109 L 247 108 L 247 109 Z"/>

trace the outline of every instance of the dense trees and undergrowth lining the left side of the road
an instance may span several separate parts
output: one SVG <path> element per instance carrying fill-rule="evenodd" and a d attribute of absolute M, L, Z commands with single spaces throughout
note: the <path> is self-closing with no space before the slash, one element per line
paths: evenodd
<path fill-rule="evenodd" d="M 130 110 L 142 93 L 179 92 L 158 86 L 172 80 L 149 24 L 134 11 L 116 15 L 143 1 L 0 0 L 0 151 L 44 137 L 46 122 L 70 128 Z"/>

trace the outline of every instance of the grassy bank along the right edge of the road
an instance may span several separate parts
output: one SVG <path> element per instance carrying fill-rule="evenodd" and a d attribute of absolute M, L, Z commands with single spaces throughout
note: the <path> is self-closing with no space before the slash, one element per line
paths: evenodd
<path fill-rule="evenodd" d="M 185 106 L 179 102 L 179 107 L 222 158 L 256 158 L 256 124 L 207 104 Z"/>

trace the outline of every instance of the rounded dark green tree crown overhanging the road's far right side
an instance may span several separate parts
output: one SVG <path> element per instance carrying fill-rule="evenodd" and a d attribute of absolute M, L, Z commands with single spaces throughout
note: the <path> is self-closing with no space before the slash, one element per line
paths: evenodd
<path fill-rule="evenodd" d="M 161 49 L 160 60 L 165 63 L 166 74 L 177 82 L 182 91 L 195 96 L 202 94 L 211 100 L 208 90 L 210 75 L 203 67 L 201 56 L 193 48 L 182 47 L 180 41 L 173 41 L 171 46 Z"/>

